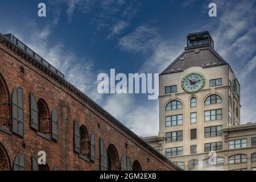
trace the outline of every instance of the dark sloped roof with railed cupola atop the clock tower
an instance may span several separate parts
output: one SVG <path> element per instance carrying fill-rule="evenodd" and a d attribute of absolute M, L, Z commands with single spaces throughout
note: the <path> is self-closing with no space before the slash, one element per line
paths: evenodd
<path fill-rule="evenodd" d="M 208 31 L 188 34 L 187 47 L 161 75 L 182 72 L 190 67 L 216 67 L 228 64 L 213 48 L 213 40 Z"/>

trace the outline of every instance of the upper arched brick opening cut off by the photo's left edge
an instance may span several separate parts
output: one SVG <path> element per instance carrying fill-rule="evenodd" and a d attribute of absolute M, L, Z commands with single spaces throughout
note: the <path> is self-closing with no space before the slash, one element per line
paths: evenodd
<path fill-rule="evenodd" d="M 0 127 L 6 130 L 11 130 L 10 125 L 10 92 L 7 87 L 5 78 L 0 73 Z"/>

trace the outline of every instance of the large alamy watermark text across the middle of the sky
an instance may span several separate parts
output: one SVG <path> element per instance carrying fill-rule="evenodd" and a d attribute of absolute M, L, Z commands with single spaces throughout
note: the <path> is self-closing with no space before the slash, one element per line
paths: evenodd
<path fill-rule="evenodd" d="M 148 94 L 148 100 L 158 99 L 158 73 L 118 73 L 115 75 L 115 69 L 110 69 L 110 76 L 106 73 L 100 73 L 97 80 L 100 81 L 97 86 L 98 93 L 118 93 L 118 94 Z"/>

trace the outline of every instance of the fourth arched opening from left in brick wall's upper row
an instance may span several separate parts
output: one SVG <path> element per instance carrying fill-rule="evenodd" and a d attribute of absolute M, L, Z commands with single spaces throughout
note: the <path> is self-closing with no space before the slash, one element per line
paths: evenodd
<path fill-rule="evenodd" d="M 108 170 L 109 171 L 118 171 L 119 168 L 119 156 L 117 148 L 113 144 L 109 144 L 108 149 Z"/>

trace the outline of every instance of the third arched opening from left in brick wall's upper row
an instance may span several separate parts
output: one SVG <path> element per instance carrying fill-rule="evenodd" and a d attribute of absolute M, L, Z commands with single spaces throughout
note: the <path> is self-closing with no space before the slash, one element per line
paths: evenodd
<path fill-rule="evenodd" d="M 81 144 L 80 144 L 81 155 L 89 159 L 89 151 L 90 151 L 89 135 L 84 126 L 80 127 L 80 135 L 81 135 Z"/>

